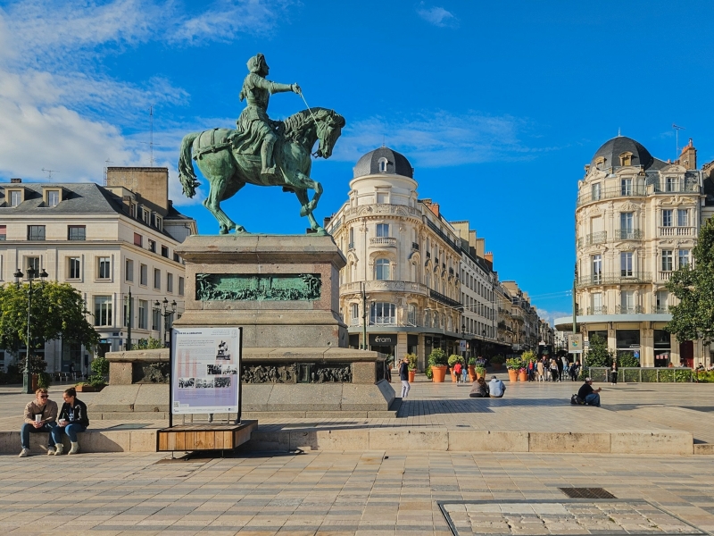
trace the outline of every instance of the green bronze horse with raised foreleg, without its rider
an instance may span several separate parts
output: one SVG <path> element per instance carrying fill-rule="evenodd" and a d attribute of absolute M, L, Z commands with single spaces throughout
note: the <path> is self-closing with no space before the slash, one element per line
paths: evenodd
<path fill-rule="evenodd" d="M 261 175 L 260 155 L 235 154 L 229 138 L 234 130 L 213 129 L 187 134 L 181 141 L 179 157 L 179 180 L 184 195 L 194 197 L 195 188 L 200 184 L 191 162 L 193 154 L 198 169 L 211 185 L 203 206 L 218 220 L 220 234 L 230 230 L 237 234 L 248 232 L 243 225 L 228 218 L 221 210 L 220 202 L 235 196 L 246 184 L 254 184 L 282 186 L 286 191 L 294 191 L 302 205 L 300 215 L 307 216 L 312 230 L 325 235 L 327 232 L 312 215 L 322 194 L 320 182 L 310 178 L 312 147 L 320 140 L 314 155 L 329 158 L 344 126 L 345 118 L 326 108 L 312 108 L 291 115 L 278 130 L 281 135 L 274 150 L 277 173 L 267 177 Z M 312 199 L 308 197 L 308 189 L 315 192 Z"/>

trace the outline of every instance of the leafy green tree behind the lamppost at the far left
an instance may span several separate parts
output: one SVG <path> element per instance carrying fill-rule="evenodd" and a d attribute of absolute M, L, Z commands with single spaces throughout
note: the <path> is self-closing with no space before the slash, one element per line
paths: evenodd
<path fill-rule="evenodd" d="M 85 347 L 99 342 L 99 335 L 87 322 L 89 311 L 79 290 L 54 281 L 32 285 L 28 341 L 28 298 L 29 284 L 0 286 L 0 347 L 17 355 L 23 345 L 31 354 L 59 337 Z"/>

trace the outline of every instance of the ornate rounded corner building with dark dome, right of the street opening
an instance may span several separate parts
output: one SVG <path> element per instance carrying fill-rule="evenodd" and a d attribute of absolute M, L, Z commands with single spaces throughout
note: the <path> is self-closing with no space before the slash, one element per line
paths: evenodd
<path fill-rule="evenodd" d="M 619 136 L 600 147 L 578 181 L 577 323 L 585 340 L 599 334 L 643 366 L 708 361 L 701 341 L 664 330 L 674 305 L 665 285 L 692 262 L 702 222 L 703 174 L 690 140 L 677 162 L 653 157 Z M 560 329 L 571 318 L 556 321 Z"/>

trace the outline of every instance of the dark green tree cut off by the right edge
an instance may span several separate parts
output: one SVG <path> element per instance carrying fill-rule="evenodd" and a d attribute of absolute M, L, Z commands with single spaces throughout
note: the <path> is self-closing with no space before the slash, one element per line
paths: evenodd
<path fill-rule="evenodd" d="M 680 266 L 672 273 L 667 289 L 679 305 L 669 307 L 672 320 L 665 329 L 679 340 L 701 337 L 705 345 L 714 340 L 714 218 L 700 230 L 693 266 Z"/>

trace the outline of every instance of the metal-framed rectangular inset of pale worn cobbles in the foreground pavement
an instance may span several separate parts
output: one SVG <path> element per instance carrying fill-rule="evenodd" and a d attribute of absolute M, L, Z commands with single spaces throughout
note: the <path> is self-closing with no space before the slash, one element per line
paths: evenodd
<path fill-rule="evenodd" d="M 477 534 L 707 534 L 644 500 L 437 501 L 454 536 Z"/>

